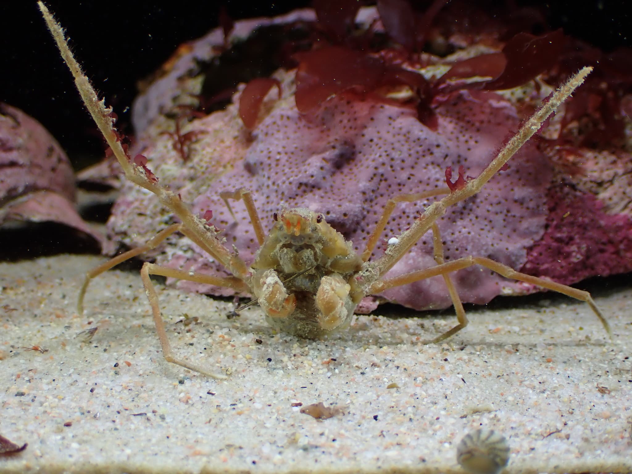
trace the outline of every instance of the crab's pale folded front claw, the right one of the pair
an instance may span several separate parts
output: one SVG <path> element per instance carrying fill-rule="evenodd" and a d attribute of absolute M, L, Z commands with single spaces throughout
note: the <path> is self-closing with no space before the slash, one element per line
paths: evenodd
<path fill-rule="evenodd" d="M 316 293 L 316 305 L 320 310 L 318 321 L 325 331 L 332 331 L 348 320 L 351 286 L 339 274 L 324 276 Z"/>

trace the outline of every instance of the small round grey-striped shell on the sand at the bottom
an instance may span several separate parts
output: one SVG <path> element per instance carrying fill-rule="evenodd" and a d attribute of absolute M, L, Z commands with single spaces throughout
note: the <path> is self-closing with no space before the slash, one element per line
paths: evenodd
<path fill-rule="evenodd" d="M 509 461 L 509 444 L 493 430 L 476 430 L 461 439 L 456 447 L 456 460 L 470 472 L 495 474 Z"/>

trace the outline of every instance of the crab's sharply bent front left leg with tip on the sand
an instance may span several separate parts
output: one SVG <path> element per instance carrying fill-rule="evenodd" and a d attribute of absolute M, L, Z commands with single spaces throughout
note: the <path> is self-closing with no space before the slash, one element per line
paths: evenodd
<path fill-rule="evenodd" d="M 216 277 L 210 275 L 192 274 L 183 270 L 170 269 L 147 262 L 143 265 L 142 270 L 140 270 L 140 277 L 143 280 L 145 293 L 147 293 L 147 299 L 149 299 L 149 304 L 152 307 L 154 324 L 156 327 L 156 332 L 158 334 L 158 339 L 160 340 L 162 355 L 164 355 L 165 360 L 167 362 L 173 362 L 174 364 L 180 365 L 181 367 L 188 368 L 189 370 L 193 370 L 194 372 L 199 372 L 200 374 L 207 375 L 208 377 L 212 377 L 213 379 L 227 379 L 228 377 L 226 377 L 226 375 L 224 374 L 212 374 L 211 372 L 207 372 L 207 370 L 205 370 L 203 367 L 200 367 L 199 365 L 186 362 L 186 360 L 179 359 L 173 356 L 173 353 L 171 352 L 171 344 L 169 344 L 169 339 L 167 339 L 167 332 L 164 329 L 164 321 L 162 320 L 162 315 L 158 304 L 158 295 L 156 294 L 154 283 L 152 283 L 149 277 L 150 275 L 161 275 L 182 280 L 195 281 L 197 283 L 208 283 L 217 286 L 226 286 L 228 288 L 237 289 L 239 291 L 248 291 L 246 285 L 237 277 Z"/>

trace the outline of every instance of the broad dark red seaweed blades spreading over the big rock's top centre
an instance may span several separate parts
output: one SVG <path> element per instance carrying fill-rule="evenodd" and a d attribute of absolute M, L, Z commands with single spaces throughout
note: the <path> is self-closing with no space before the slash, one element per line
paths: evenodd
<path fill-rule="evenodd" d="M 387 3 L 394 8 L 387 9 L 387 13 L 398 12 L 386 20 L 387 23 L 391 21 L 391 28 L 394 28 L 395 23 L 404 22 L 404 5 L 407 3 L 401 0 L 389 0 Z M 395 4 L 399 6 L 395 8 Z M 405 25 L 403 28 L 406 28 Z M 566 37 L 561 30 L 540 36 L 518 33 L 507 42 L 502 52 L 459 61 L 432 84 L 421 74 L 404 68 L 401 65 L 404 61 L 397 54 L 367 54 L 347 46 L 299 52 L 294 56 L 299 61 L 296 107 L 300 112 L 308 113 L 336 94 L 354 92 L 364 99 L 382 87 L 408 85 L 415 95 L 417 118 L 436 130 L 438 122 L 432 104 L 436 95 L 463 88 L 502 90 L 518 87 L 554 68 L 565 45 Z M 477 83 L 458 81 L 472 76 L 488 76 L 490 79 Z M 446 84 L 447 80 L 457 81 Z M 381 97 L 386 99 L 383 94 Z"/>

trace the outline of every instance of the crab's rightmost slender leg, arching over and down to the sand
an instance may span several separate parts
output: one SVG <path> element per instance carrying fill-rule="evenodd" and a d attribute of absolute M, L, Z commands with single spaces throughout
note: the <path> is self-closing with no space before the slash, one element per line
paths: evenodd
<path fill-rule="evenodd" d="M 489 258 L 485 257 L 458 258 L 457 260 L 453 260 L 453 262 L 448 262 L 447 264 L 437 265 L 436 267 L 428 268 L 425 270 L 417 270 L 415 272 L 410 272 L 404 275 L 387 278 L 382 281 L 377 281 L 371 286 L 370 293 L 380 293 L 381 291 L 389 288 L 394 288 L 395 286 L 413 283 L 415 281 L 420 281 L 433 276 L 444 275 L 449 272 L 455 272 L 456 270 L 471 267 L 472 265 L 482 265 L 483 267 L 489 268 L 490 270 L 493 270 L 494 272 L 506 278 L 524 281 L 525 283 L 531 283 L 537 286 L 541 286 L 542 288 L 557 291 L 557 293 L 562 293 L 564 295 L 570 296 L 571 298 L 575 298 L 576 300 L 586 301 L 586 303 L 588 303 L 595 315 L 597 315 L 597 317 L 601 321 L 601 324 L 604 326 L 605 331 L 610 337 L 612 337 L 610 325 L 608 324 L 604 315 L 602 315 L 602 313 L 599 311 L 599 308 L 597 308 L 597 305 L 595 305 L 595 301 L 593 301 L 592 296 L 590 296 L 590 293 L 588 293 L 588 291 L 582 291 L 581 289 L 572 288 L 571 286 L 563 285 L 561 283 L 555 283 L 554 281 L 549 281 L 544 278 L 534 277 L 525 273 L 517 272 L 507 265 L 499 264 L 498 262 L 494 262 L 494 260 L 490 260 Z M 442 341 L 443 339 L 446 339 L 446 337 L 451 336 L 461 329 L 463 329 L 463 327 L 459 327 L 459 329 L 453 328 L 450 331 L 441 334 L 441 336 L 436 337 L 431 342 Z"/>

